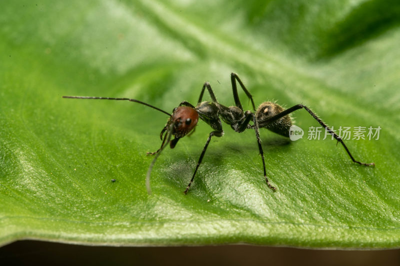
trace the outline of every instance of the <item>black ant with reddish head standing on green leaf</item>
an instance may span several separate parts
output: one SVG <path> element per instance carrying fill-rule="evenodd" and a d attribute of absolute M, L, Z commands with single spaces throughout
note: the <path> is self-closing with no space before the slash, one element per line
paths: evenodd
<path fill-rule="evenodd" d="M 374 163 L 361 163 L 356 161 L 353 156 L 351 155 L 350 151 L 342 141 L 342 139 L 336 135 L 322 120 L 312 112 L 307 106 L 303 104 L 296 104 L 290 108 L 283 109 L 280 105 L 274 102 L 263 102 L 261 103 L 257 110 L 255 110 L 254 102 L 252 99 L 251 94 L 248 92 L 246 87 L 244 86 L 243 82 L 235 73 L 231 73 L 230 80 L 232 83 L 232 90 L 233 90 L 233 99 L 235 102 L 235 106 L 226 107 L 220 103 L 215 98 L 215 95 L 211 89 L 211 86 L 208 82 L 205 82 L 202 86 L 200 96 L 197 101 L 197 105 L 193 106 L 187 101 L 182 101 L 178 107 L 175 107 L 172 111 L 172 114 L 161 110 L 155 106 L 152 106 L 148 103 L 129 99 L 129 98 L 108 98 L 108 97 L 86 97 L 86 96 L 62 96 L 63 98 L 73 98 L 73 99 L 100 99 L 100 100 L 127 100 L 131 102 L 137 102 L 148 107 L 151 107 L 155 110 L 163 112 L 169 116 L 168 121 L 166 122 L 165 126 L 162 128 L 160 133 L 160 139 L 162 141 L 161 147 L 156 152 L 147 152 L 147 155 L 155 155 L 154 159 L 152 160 L 146 175 L 146 188 L 147 192 L 150 194 L 150 173 L 152 167 L 160 155 L 161 151 L 167 146 L 165 143 L 169 144 L 169 147 L 173 149 L 176 146 L 176 143 L 182 137 L 188 135 L 189 133 L 193 133 L 195 126 L 197 125 L 198 119 L 203 120 L 207 123 L 213 131 L 211 131 L 208 135 L 208 139 L 205 142 L 204 148 L 200 154 L 200 158 L 197 161 L 196 168 L 194 169 L 193 176 L 190 179 L 189 184 L 187 185 L 186 189 L 184 190 L 184 194 L 190 188 L 190 185 L 193 183 L 194 176 L 196 175 L 197 169 L 201 164 L 201 161 L 204 157 L 205 151 L 208 147 L 208 144 L 212 137 L 222 137 L 223 129 L 222 129 L 222 122 L 230 125 L 230 127 L 238 132 L 241 133 L 246 129 L 253 129 L 255 132 L 255 138 L 257 139 L 258 144 L 258 151 L 261 155 L 262 160 L 262 167 L 264 170 L 264 178 L 268 187 L 275 191 L 276 188 L 269 184 L 268 178 L 266 177 L 265 171 L 265 161 L 264 161 L 264 153 L 262 151 L 261 140 L 259 138 L 259 128 L 266 128 L 274 133 L 282 135 L 284 137 L 289 137 L 289 128 L 292 125 L 291 117 L 289 116 L 295 110 L 298 109 L 305 109 L 325 130 L 327 130 L 333 137 L 337 140 L 337 143 L 341 143 L 344 150 L 347 152 L 350 159 L 359 165 L 365 166 L 374 166 Z M 253 107 L 254 112 L 251 111 L 243 111 L 241 106 L 239 96 L 237 94 L 237 86 L 236 82 L 239 83 L 240 87 L 251 101 L 251 105 Z M 204 90 L 207 89 L 208 93 L 211 97 L 211 101 L 202 101 Z M 252 122 L 252 124 L 250 124 Z M 171 140 L 171 136 L 174 138 Z M 336 143 L 336 145 L 337 145 Z"/>

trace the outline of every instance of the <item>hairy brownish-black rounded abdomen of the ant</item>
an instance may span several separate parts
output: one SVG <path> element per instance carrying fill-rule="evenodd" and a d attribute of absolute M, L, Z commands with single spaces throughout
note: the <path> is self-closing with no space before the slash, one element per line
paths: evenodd
<path fill-rule="evenodd" d="M 285 115 L 277 120 L 269 121 L 269 118 L 283 110 L 284 109 L 280 105 L 274 102 L 261 103 L 255 112 L 258 127 L 263 127 L 284 137 L 289 137 L 289 128 L 291 126 L 291 118 L 289 115 Z"/>

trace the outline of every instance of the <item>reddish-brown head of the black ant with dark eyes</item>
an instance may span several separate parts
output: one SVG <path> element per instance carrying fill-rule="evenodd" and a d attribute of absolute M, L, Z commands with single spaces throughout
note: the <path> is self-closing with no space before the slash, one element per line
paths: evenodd
<path fill-rule="evenodd" d="M 198 113 L 194 108 L 179 106 L 173 109 L 172 116 L 169 118 L 167 126 L 173 125 L 172 135 L 175 139 L 171 141 L 171 148 L 175 147 L 178 139 L 186 136 L 194 129 L 198 122 Z"/>

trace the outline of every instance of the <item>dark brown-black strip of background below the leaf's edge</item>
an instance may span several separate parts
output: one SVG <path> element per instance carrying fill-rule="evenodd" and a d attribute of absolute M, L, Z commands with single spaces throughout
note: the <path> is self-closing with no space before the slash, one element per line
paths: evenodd
<path fill-rule="evenodd" d="M 0 248 L 0 265 L 400 265 L 400 250 L 332 251 L 249 245 L 91 247 L 17 241 Z"/>

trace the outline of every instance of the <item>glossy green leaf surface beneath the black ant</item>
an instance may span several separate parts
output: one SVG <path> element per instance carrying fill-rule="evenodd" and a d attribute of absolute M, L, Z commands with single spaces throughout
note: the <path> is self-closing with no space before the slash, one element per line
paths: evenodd
<path fill-rule="evenodd" d="M 0 9 L 0 243 L 252 243 L 400 247 L 400 5 L 397 1 L 13 1 Z M 312 108 L 334 129 L 380 127 L 345 140 L 319 124 L 291 142 L 226 124 L 183 195 L 211 128 L 159 148 L 165 114 L 196 103 L 204 81 L 233 105 L 230 72 L 256 103 Z M 240 90 L 243 107 L 250 109 Z M 208 95 L 206 96 L 208 99 Z M 323 134 L 323 132 L 322 132 Z M 322 137 L 321 137 L 322 138 Z M 115 179 L 115 182 L 111 182 Z"/>

